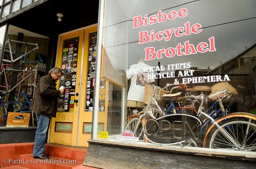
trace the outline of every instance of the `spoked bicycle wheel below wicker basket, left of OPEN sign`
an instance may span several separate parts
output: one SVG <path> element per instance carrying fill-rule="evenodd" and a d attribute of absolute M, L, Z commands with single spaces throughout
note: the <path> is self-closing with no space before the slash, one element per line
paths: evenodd
<path fill-rule="evenodd" d="M 138 123 L 139 125 L 136 129 Z M 138 137 L 139 140 L 144 140 L 144 127 L 142 121 L 139 121 L 139 118 L 134 117 L 131 120 L 129 120 L 124 129 L 129 129 L 131 132 L 133 132 L 134 137 Z"/>

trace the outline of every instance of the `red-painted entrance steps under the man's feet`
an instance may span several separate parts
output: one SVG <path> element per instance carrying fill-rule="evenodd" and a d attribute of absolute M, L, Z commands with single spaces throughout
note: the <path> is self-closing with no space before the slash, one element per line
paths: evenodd
<path fill-rule="evenodd" d="M 86 148 L 46 144 L 45 153 L 49 160 L 38 160 L 32 156 L 33 142 L 0 145 L 0 168 L 15 169 L 92 169 L 83 165 Z"/>

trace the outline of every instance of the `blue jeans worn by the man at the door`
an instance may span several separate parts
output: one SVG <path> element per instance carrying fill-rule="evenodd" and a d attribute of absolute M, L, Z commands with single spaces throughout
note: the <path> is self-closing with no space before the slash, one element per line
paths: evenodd
<path fill-rule="evenodd" d="M 44 154 L 45 138 L 50 118 L 37 114 L 37 120 L 37 131 L 36 136 L 34 137 L 33 156 L 40 156 Z"/>

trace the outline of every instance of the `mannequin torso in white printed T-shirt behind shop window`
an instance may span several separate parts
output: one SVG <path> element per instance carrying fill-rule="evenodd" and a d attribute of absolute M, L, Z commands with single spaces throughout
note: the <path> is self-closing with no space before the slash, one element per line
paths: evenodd
<path fill-rule="evenodd" d="M 143 59 L 138 60 L 138 63 L 133 64 L 130 70 L 139 68 L 150 68 Z M 148 80 L 147 74 L 153 72 L 139 72 L 136 74 L 126 74 L 126 78 L 131 79 L 131 85 L 127 95 L 127 107 L 140 108 L 142 109 L 146 104 L 144 101 L 145 95 L 145 82 L 152 83 L 155 82 L 154 79 Z"/>

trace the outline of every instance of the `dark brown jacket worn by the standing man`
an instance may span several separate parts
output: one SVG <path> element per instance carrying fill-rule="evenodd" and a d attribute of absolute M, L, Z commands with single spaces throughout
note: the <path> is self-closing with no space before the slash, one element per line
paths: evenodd
<path fill-rule="evenodd" d="M 51 74 L 41 77 L 37 83 L 36 91 L 34 91 L 33 100 L 31 103 L 31 110 L 34 113 L 56 117 L 57 98 L 60 97 L 60 90 L 56 89 L 55 80 Z"/>

